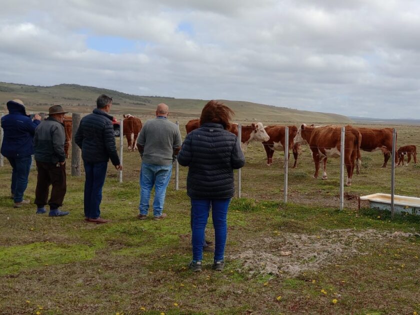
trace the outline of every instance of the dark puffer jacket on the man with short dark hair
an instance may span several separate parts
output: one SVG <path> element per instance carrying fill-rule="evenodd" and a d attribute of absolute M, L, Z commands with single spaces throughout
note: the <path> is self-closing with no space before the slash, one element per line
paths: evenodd
<path fill-rule="evenodd" d="M 91 114 L 84 116 L 74 140 L 81 148 L 83 161 L 98 163 L 107 162 L 110 158 L 113 165 L 119 165 L 112 116 L 105 111 L 95 108 Z"/>

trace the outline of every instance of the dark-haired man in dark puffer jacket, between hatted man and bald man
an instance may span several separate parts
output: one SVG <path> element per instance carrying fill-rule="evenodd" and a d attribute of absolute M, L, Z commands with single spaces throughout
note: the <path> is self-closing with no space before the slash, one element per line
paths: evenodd
<path fill-rule="evenodd" d="M 76 144 L 81 148 L 85 171 L 84 219 L 98 224 L 110 221 L 100 217 L 99 209 L 108 160 L 111 159 L 115 169 L 122 170 L 116 151 L 112 116 L 108 114 L 111 105 L 112 97 L 99 95 L 96 108 L 81 119 L 74 136 Z"/>

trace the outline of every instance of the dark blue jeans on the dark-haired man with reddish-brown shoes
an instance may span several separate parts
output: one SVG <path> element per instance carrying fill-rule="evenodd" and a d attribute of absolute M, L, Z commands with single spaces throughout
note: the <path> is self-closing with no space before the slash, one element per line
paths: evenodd
<path fill-rule="evenodd" d="M 100 216 L 100 201 L 102 200 L 102 187 L 105 182 L 108 162 L 83 162 L 84 181 L 84 216 L 98 218 Z"/>

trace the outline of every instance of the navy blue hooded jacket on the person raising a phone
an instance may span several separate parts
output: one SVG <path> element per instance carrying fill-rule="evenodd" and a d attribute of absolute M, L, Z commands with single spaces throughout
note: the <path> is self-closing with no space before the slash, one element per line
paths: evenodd
<path fill-rule="evenodd" d="M 1 117 L 4 130 L 1 154 L 6 157 L 22 157 L 33 154 L 33 134 L 40 120 L 26 115 L 25 106 L 15 101 L 7 102 L 9 113 Z"/>

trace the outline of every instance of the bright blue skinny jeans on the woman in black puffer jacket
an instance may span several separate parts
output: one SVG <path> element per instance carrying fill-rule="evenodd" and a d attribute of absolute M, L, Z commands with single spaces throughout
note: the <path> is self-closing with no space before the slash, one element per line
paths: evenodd
<path fill-rule="evenodd" d="M 202 242 L 211 204 L 214 226 L 214 261 L 223 260 L 227 235 L 228 199 L 191 199 L 192 213 L 192 260 L 202 259 Z"/>

